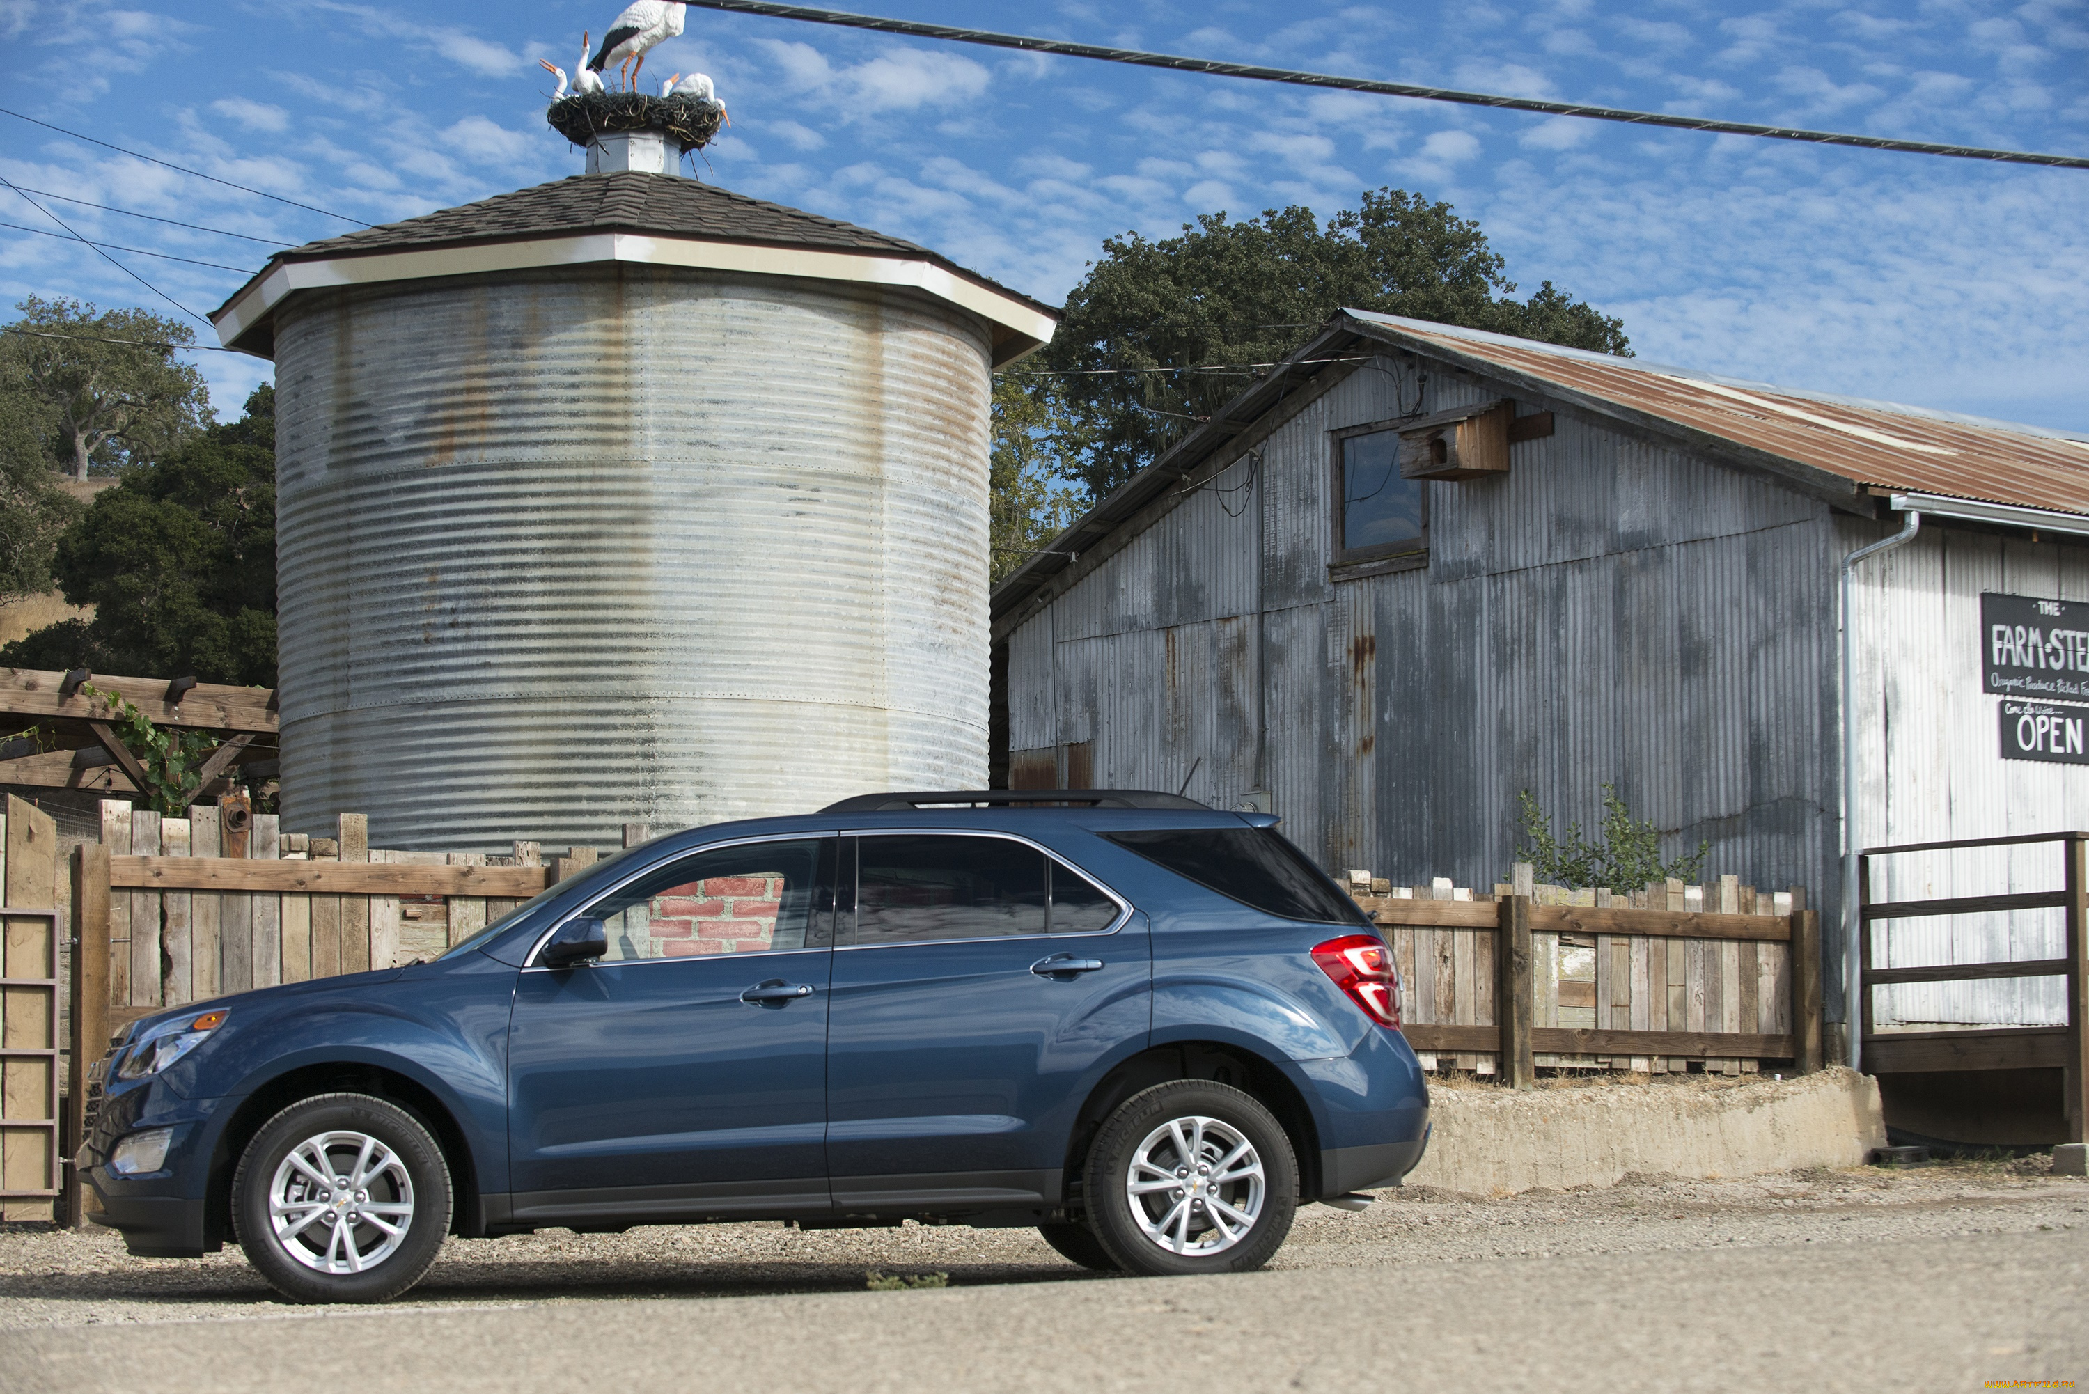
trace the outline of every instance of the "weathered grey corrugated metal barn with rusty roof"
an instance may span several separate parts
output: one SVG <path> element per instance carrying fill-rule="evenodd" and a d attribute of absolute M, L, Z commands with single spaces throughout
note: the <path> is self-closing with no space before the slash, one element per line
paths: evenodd
<path fill-rule="evenodd" d="M 1857 842 L 2089 826 L 2089 713 L 2008 748 L 2012 692 L 2089 700 L 2074 631 L 1991 646 L 2089 600 L 2089 439 L 1364 311 L 996 587 L 996 775 L 1266 805 L 1333 872 L 1475 886 L 1519 790 L 1594 828 L 1611 782 L 1669 846 L 1709 840 L 1707 876 L 1805 886 L 1834 926 L 1838 568 L 1907 512 L 1857 568 Z M 2012 855 L 1897 876 L 2058 876 Z M 2058 917 L 1949 926 L 1914 951 L 2039 957 Z M 2037 1022 L 2058 991 L 1895 989 L 1882 1022 Z"/>

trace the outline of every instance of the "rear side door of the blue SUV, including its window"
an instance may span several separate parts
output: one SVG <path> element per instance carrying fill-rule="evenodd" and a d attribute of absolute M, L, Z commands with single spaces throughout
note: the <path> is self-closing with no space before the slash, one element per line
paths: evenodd
<path fill-rule="evenodd" d="M 1145 1049 L 1145 917 L 1003 834 L 863 834 L 842 886 L 836 1208 L 1055 1204 L 1086 1091 Z"/>

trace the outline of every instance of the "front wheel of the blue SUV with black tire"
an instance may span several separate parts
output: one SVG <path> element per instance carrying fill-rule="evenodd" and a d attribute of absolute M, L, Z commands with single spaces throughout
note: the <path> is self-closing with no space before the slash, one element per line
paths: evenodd
<path fill-rule="evenodd" d="M 368 1152 L 363 1139 L 374 1143 Z M 311 1172 L 313 1158 L 336 1172 L 324 1191 Z M 368 1158 L 363 1187 L 336 1187 L 334 1181 L 355 1181 L 357 1158 Z M 272 1214 L 278 1177 L 286 1204 L 297 1206 L 284 1216 L 290 1235 L 278 1233 Z M 357 1206 L 370 1206 L 372 1214 Z M 428 1129 L 397 1103 L 366 1093 L 322 1093 L 282 1110 L 247 1143 L 232 1177 L 240 1248 L 269 1287 L 292 1302 L 397 1298 L 435 1264 L 449 1212 L 449 1168 Z M 397 1233 L 384 1229 L 391 1223 Z M 345 1271 L 366 1258 L 361 1271 Z"/>

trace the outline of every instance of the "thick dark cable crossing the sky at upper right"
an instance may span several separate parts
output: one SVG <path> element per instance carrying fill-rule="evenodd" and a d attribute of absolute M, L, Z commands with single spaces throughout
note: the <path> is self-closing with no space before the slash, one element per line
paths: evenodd
<path fill-rule="evenodd" d="M 1337 92 L 1377 92 L 1381 96 L 1414 96 L 1425 102 L 1458 102 L 1464 107 L 1538 111 L 1554 117 L 1623 121 L 1627 125 L 1667 125 L 1684 132 L 1711 132 L 1715 136 L 1763 136 L 1767 140 L 1803 140 L 1809 144 L 1855 146 L 1859 150 L 1901 150 L 1905 155 L 1949 155 L 1953 159 L 1989 159 L 2010 165 L 2089 169 L 2089 157 L 2079 157 L 2079 155 L 1987 150 L 1980 146 L 1966 146 L 1966 144 L 1934 144 L 1930 140 L 1886 140 L 1882 136 L 1847 136 L 1838 132 L 1813 132 L 1797 125 L 1757 125 L 1753 121 L 1711 121 L 1705 117 L 1675 117 L 1661 111 L 1627 111 L 1623 107 L 1588 107 L 1583 102 L 1542 102 L 1529 96 L 1494 96 L 1487 92 L 1458 92 L 1454 88 L 1421 88 L 1408 82 L 1333 77 L 1329 73 L 1306 73 L 1289 67 L 1258 67 L 1253 63 L 1218 63 L 1214 59 L 1182 59 L 1164 52 L 1141 52 L 1136 48 L 1105 48 L 1101 44 L 1065 44 L 1061 40 L 1040 40 L 1022 33 L 957 29 L 953 25 L 919 25 L 907 19 L 850 15 L 848 10 L 817 10 L 802 4 L 769 4 L 769 0 L 689 0 L 689 4 L 698 4 L 706 10 L 731 10 L 735 15 L 765 15 L 769 19 L 802 19 L 815 25 L 842 25 L 844 29 L 875 29 L 877 33 L 911 33 L 915 38 L 950 40 L 955 44 L 986 44 L 988 48 L 1019 48 L 1022 52 L 1051 52 L 1070 59 L 1099 59 L 1103 63 L 1166 67 L 1178 73 L 1210 73 L 1216 77 L 1251 77 L 1255 82 L 1287 82 L 1301 88 L 1331 88 Z"/>

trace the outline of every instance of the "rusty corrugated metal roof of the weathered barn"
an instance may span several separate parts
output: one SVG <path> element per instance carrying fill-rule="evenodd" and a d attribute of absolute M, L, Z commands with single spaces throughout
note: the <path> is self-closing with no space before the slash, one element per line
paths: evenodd
<path fill-rule="evenodd" d="M 1609 414 L 1623 408 L 1690 426 L 1861 487 L 2089 514 L 2089 437 L 1801 393 L 1362 309 L 1347 318 L 1372 339 L 1431 357 L 1448 351 L 1466 368 L 1494 370 L 1492 376 L 1506 370 L 1560 395 L 1600 399 L 1613 408 Z"/>

